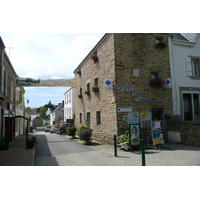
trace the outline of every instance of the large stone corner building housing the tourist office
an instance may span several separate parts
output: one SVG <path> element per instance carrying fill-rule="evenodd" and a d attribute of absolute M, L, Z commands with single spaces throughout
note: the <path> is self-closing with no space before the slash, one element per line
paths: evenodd
<path fill-rule="evenodd" d="M 87 124 L 94 139 L 113 143 L 113 135 L 125 133 L 136 113 L 142 137 L 151 134 L 151 120 L 160 120 L 167 138 L 172 91 L 149 82 L 171 76 L 169 40 L 170 34 L 105 34 L 74 71 L 76 127 Z"/>

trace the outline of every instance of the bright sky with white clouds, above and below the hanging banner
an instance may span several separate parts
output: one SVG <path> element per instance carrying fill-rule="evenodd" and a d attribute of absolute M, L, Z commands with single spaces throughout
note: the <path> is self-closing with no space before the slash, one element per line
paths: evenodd
<path fill-rule="evenodd" d="M 0 33 L 19 77 L 74 78 L 73 71 L 105 33 Z M 69 87 L 24 87 L 25 106 L 64 100 Z M 29 100 L 29 104 L 27 104 Z"/>

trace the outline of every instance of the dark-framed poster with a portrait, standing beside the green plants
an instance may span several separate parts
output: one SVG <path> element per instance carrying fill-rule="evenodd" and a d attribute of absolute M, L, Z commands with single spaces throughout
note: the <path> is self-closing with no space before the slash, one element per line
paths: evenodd
<path fill-rule="evenodd" d="M 130 124 L 130 144 L 131 146 L 140 145 L 140 125 L 139 124 Z"/>

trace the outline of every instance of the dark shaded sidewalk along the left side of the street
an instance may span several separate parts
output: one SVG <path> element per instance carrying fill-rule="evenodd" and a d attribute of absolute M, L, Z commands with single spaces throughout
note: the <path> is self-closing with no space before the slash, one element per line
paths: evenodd
<path fill-rule="evenodd" d="M 34 166 L 35 148 L 26 149 L 26 135 L 16 137 L 9 150 L 0 150 L 0 166 Z"/>

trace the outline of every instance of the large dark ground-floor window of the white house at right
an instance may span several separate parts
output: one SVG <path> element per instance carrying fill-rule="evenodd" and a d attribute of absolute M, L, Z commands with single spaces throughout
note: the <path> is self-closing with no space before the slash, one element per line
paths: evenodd
<path fill-rule="evenodd" d="M 199 92 L 183 93 L 183 114 L 186 121 L 199 121 Z"/>

